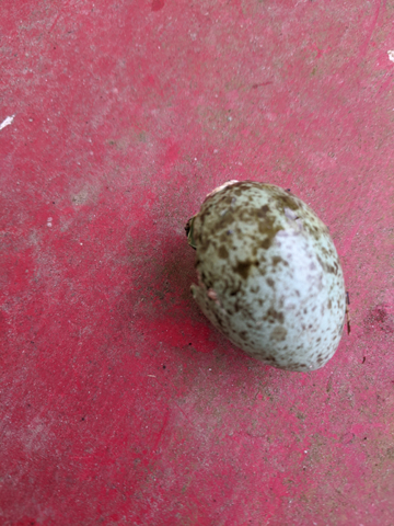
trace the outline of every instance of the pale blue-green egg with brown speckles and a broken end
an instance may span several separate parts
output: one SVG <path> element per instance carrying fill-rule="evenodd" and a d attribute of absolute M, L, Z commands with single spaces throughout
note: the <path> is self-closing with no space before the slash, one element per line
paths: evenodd
<path fill-rule="evenodd" d="M 186 226 L 197 252 L 192 293 L 248 355 L 314 370 L 343 333 L 343 271 L 327 227 L 294 195 L 252 181 L 216 188 Z"/>

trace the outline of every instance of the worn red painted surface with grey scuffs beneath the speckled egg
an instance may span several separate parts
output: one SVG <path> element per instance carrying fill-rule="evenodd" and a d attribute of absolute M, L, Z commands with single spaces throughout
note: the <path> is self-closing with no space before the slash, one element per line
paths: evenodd
<path fill-rule="evenodd" d="M 2 0 L 1 525 L 394 524 L 393 16 Z M 184 224 L 229 179 L 331 228 L 352 331 L 318 371 L 192 301 Z"/>

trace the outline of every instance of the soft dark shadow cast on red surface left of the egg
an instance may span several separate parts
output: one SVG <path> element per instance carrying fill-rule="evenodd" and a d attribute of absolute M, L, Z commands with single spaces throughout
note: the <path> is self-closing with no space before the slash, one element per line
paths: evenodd
<path fill-rule="evenodd" d="M 182 233 L 170 231 L 154 244 L 132 242 L 128 248 L 131 277 L 117 304 L 118 332 L 127 347 L 150 352 L 148 338 L 151 347 L 165 347 L 195 369 L 219 368 L 225 377 L 241 375 L 251 381 L 256 375 L 288 375 L 248 356 L 205 317 L 190 293 L 197 283 L 196 251 Z"/>

